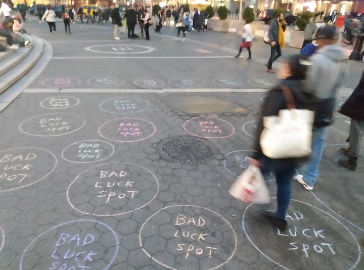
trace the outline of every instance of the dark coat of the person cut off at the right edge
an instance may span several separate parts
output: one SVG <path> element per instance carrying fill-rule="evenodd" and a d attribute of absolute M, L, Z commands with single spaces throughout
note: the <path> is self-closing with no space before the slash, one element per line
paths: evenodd
<path fill-rule="evenodd" d="M 364 121 L 364 72 L 358 86 L 341 106 L 339 112 L 356 121 Z"/>

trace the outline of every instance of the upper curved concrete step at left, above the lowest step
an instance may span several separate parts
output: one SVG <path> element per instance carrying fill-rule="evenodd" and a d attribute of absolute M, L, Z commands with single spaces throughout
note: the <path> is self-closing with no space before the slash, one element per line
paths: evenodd
<path fill-rule="evenodd" d="M 4 60 L 8 61 L 8 64 L 11 64 L 12 67 L 8 68 L 8 71 L 0 76 L 0 94 L 21 79 L 38 62 L 43 52 L 43 42 L 38 37 L 33 37 L 31 47 L 20 48 L 19 50 L 23 52 L 15 52 Z M 15 62 L 17 64 L 14 65 Z M 2 68 L 7 68 L 3 67 L 3 62 L 0 64 Z"/>

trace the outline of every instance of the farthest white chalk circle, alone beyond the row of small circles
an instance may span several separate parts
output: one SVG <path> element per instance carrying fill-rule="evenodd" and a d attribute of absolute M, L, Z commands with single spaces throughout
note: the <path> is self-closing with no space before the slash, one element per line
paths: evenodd
<path fill-rule="evenodd" d="M 153 52 L 155 49 L 152 47 L 142 45 L 95 45 L 85 48 L 86 51 L 94 53 L 107 53 L 107 54 L 144 54 Z"/>

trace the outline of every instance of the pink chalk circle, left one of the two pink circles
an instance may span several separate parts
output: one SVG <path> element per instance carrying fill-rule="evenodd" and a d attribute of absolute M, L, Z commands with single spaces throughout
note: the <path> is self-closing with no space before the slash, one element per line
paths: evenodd
<path fill-rule="evenodd" d="M 99 134 L 105 139 L 117 142 L 143 141 L 153 136 L 156 127 L 153 123 L 140 118 L 118 118 L 105 122 Z"/>

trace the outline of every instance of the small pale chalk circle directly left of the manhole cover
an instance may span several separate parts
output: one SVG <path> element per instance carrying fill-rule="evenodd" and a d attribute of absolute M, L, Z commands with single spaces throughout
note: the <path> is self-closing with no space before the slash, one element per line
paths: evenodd
<path fill-rule="evenodd" d="M 100 140 L 84 140 L 68 145 L 62 151 L 62 159 L 72 163 L 100 162 L 110 158 L 114 145 Z"/>

